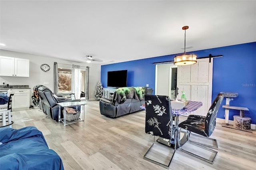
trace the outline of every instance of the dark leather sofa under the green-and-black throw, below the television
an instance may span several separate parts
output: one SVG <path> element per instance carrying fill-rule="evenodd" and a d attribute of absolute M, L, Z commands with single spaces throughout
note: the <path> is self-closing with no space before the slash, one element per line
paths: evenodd
<path fill-rule="evenodd" d="M 153 89 L 151 87 L 144 87 L 147 89 L 146 94 L 151 95 Z M 142 110 L 140 106 L 144 104 L 144 97 L 142 100 L 138 99 L 126 99 L 123 103 L 118 103 L 118 101 L 110 101 L 108 99 L 100 99 L 100 114 L 106 117 L 116 118 L 130 113 L 134 113 Z"/>

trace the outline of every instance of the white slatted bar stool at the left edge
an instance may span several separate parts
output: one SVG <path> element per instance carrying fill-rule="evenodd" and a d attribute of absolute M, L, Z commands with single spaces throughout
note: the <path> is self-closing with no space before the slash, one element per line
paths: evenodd
<path fill-rule="evenodd" d="M 12 124 L 14 123 L 12 121 L 12 96 L 14 95 L 14 90 L 9 89 L 7 92 L 7 96 L 9 97 L 8 103 L 4 105 L 0 105 L 0 116 L 2 116 L 2 126 L 1 127 L 7 127 L 9 126 L 12 128 Z M 7 116 L 7 117 L 6 117 Z M 6 125 L 6 118 L 8 119 L 8 124 Z"/>

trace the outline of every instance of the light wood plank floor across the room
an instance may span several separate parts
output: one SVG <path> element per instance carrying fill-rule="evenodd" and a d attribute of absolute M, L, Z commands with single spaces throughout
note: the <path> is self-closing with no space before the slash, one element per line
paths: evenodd
<path fill-rule="evenodd" d="M 153 136 L 145 133 L 145 112 L 110 119 L 100 115 L 99 102 L 87 101 L 82 122 L 58 126 L 39 109 L 12 112 L 13 128 L 37 127 L 66 170 L 165 170 L 143 159 Z M 180 117 L 180 121 L 186 117 Z M 170 170 L 256 170 L 256 132 L 222 127 L 211 136 L 219 149 L 214 164 L 176 150 Z"/>

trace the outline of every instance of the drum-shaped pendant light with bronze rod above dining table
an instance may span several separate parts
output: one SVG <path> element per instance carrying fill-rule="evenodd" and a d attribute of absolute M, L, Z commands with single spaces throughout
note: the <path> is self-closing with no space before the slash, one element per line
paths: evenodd
<path fill-rule="evenodd" d="M 188 30 L 188 26 L 182 27 L 182 30 L 185 30 L 185 43 L 184 43 L 184 54 L 176 55 L 174 57 L 174 65 L 191 65 L 195 64 L 196 54 L 186 54 L 186 30 Z"/>

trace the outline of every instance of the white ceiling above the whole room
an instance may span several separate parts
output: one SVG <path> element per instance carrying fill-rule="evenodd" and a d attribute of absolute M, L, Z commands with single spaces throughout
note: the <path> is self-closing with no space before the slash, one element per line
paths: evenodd
<path fill-rule="evenodd" d="M 187 51 L 256 42 L 256 1 L 0 1 L 1 49 L 99 65 L 183 53 L 183 26 Z"/>

